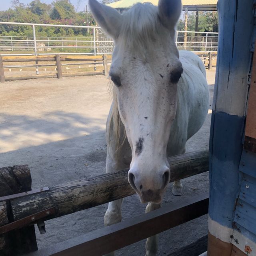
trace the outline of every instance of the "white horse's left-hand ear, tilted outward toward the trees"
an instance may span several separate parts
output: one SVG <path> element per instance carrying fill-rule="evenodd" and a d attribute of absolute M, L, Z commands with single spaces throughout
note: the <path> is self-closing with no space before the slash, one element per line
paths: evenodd
<path fill-rule="evenodd" d="M 96 0 L 89 0 L 89 5 L 95 20 L 103 30 L 112 38 L 118 38 L 122 15 L 116 9 L 100 4 Z"/>

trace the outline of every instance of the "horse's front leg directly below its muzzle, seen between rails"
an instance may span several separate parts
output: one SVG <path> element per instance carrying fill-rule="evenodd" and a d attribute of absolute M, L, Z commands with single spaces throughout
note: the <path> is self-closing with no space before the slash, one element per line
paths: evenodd
<path fill-rule="evenodd" d="M 146 213 L 154 211 L 159 208 L 161 208 L 161 204 L 155 204 L 155 203 L 149 202 L 146 207 Z M 151 236 L 147 239 L 145 256 L 156 256 L 157 249 L 158 249 L 158 234 L 156 234 L 155 236 Z"/>

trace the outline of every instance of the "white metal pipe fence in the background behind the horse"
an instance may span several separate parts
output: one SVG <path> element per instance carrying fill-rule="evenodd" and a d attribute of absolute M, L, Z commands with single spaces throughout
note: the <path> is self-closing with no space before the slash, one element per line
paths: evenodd
<path fill-rule="evenodd" d="M 111 54 L 114 42 L 108 38 L 100 27 L 69 26 L 52 24 L 32 24 L 20 22 L 0 22 L 13 26 L 32 26 L 33 36 L 0 36 L 0 53 L 2 56 L 48 55 L 48 54 Z M 62 28 L 82 28 L 90 36 L 74 37 L 38 37 L 36 27 L 50 26 Z M 177 31 L 176 44 L 179 49 L 191 51 L 216 51 L 218 33 Z"/>

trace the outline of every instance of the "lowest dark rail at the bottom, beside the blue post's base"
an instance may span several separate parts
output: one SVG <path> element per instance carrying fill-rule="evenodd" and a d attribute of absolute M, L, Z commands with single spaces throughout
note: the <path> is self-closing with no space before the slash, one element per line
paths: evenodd
<path fill-rule="evenodd" d="M 208 235 L 168 254 L 168 256 L 198 256 L 207 251 Z"/>

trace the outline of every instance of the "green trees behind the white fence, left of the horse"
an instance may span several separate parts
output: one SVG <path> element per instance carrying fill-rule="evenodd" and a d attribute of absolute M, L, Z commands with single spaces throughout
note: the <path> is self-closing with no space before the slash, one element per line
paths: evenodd
<path fill-rule="evenodd" d="M 45 4 L 41 0 L 32 0 L 28 5 L 12 0 L 12 8 L 0 11 L 0 20 L 6 22 L 64 24 L 95 26 L 90 13 L 76 12 L 69 0 L 54 0 Z M 87 18 L 86 18 L 87 16 Z M 92 32 L 92 31 L 89 31 Z M 41 37 L 87 36 L 83 28 L 54 28 L 36 26 L 36 35 Z M 0 25 L 0 36 L 33 36 L 32 26 Z"/>

